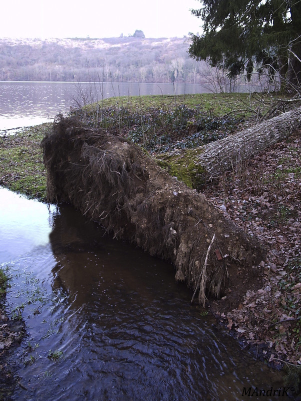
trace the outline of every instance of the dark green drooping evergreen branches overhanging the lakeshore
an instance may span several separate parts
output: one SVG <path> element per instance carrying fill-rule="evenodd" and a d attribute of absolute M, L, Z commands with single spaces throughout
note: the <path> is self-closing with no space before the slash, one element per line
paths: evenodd
<path fill-rule="evenodd" d="M 301 2 L 299 0 L 199 0 L 192 14 L 203 34 L 192 35 L 189 55 L 225 69 L 230 77 L 267 71 L 281 83 L 300 87 Z"/>

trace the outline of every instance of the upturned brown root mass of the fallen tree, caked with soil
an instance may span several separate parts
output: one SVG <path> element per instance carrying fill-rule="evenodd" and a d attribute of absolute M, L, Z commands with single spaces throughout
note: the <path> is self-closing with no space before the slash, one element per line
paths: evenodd
<path fill-rule="evenodd" d="M 253 284 L 264 257 L 258 241 L 138 146 L 60 118 L 42 147 L 50 202 L 69 202 L 115 237 L 173 263 L 202 304 L 208 294 Z"/>

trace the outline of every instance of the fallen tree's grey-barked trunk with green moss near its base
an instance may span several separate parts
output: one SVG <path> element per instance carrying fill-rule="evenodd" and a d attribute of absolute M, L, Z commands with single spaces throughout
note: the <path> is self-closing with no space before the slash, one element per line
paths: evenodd
<path fill-rule="evenodd" d="M 172 175 L 192 188 L 200 188 L 300 128 L 298 107 L 204 146 L 174 150 L 159 158 Z"/>

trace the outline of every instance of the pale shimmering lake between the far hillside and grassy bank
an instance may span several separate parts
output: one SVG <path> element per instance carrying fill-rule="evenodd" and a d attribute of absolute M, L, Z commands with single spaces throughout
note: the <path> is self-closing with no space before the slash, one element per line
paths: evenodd
<path fill-rule="evenodd" d="M 203 93 L 192 83 L 0 82 L 0 130 L 37 125 L 68 111 L 76 102 L 113 96 Z"/>

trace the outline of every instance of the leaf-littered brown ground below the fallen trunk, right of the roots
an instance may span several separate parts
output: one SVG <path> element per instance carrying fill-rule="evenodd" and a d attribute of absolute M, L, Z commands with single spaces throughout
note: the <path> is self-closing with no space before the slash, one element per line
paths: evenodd
<path fill-rule="evenodd" d="M 217 312 L 266 358 L 301 364 L 301 132 L 271 146 L 207 187 L 214 205 L 267 250 L 263 285 Z"/>

